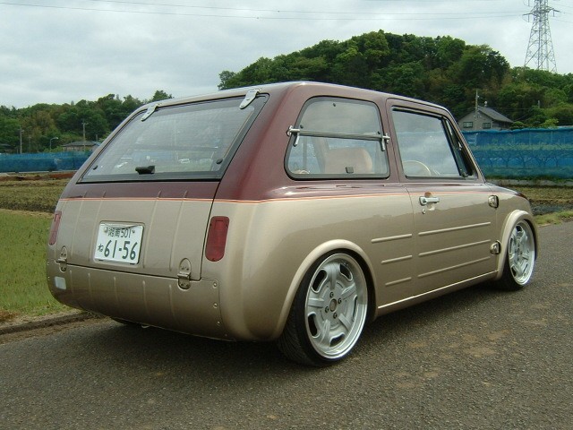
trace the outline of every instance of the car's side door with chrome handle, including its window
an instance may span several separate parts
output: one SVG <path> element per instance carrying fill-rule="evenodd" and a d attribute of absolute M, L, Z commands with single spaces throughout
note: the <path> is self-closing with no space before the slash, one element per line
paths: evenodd
<path fill-rule="evenodd" d="M 414 211 L 416 288 L 423 293 L 491 273 L 497 200 L 451 118 L 415 103 L 390 110 Z"/>

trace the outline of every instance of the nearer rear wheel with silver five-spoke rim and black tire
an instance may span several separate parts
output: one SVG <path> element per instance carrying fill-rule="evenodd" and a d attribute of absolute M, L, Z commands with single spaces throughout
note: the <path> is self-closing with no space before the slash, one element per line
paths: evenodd
<path fill-rule="evenodd" d="M 354 257 L 325 254 L 304 276 L 278 339 L 286 357 L 327 366 L 346 357 L 360 338 L 368 314 L 368 285 Z"/>

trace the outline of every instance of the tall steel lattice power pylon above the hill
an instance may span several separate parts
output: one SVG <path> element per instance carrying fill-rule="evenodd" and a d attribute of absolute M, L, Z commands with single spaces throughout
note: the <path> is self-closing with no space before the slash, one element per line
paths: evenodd
<path fill-rule="evenodd" d="M 552 31 L 549 28 L 549 14 L 553 13 L 555 15 L 559 11 L 548 4 L 549 0 L 534 1 L 534 8 L 530 13 L 524 15 L 527 16 L 527 22 L 529 22 L 529 16 L 534 17 L 534 23 L 529 35 L 525 66 L 527 67 L 531 64 L 531 67 L 536 70 L 557 73 L 555 54 L 553 53 Z M 531 0 L 527 0 L 527 5 L 530 4 Z"/>

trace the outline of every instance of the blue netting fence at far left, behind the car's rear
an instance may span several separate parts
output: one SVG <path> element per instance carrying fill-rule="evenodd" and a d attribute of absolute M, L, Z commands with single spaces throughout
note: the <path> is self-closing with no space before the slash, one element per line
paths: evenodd
<path fill-rule="evenodd" d="M 0 172 L 54 172 L 77 170 L 91 151 L 43 152 L 38 154 L 0 154 Z"/>

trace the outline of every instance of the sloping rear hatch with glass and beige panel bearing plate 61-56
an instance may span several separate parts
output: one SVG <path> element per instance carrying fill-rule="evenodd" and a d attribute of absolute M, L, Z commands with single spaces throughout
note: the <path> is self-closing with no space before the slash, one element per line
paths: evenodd
<path fill-rule="evenodd" d="M 266 97 L 150 105 L 59 204 L 66 264 L 199 280 L 218 184 Z"/>

